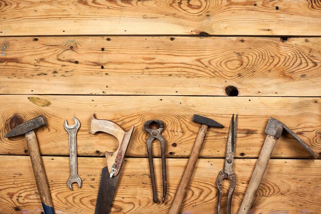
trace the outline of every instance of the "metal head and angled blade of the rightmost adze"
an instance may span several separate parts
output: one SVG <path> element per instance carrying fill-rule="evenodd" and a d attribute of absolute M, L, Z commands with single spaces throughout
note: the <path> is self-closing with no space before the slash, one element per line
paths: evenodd
<path fill-rule="evenodd" d="M 277 139 L 281 136 L 283 130 L 285 130 L 289 135 L 291 135 L 295 140 L 297 140 L 313 158 L 317 158 L 316 154 L 312 151 L 312 149 L 303 141 L 301 140 L 294 132 L 292 132 L 288 126 L 286 126 L 283 122 L 270 117 L 269 122 L 265 129 L 265 134 L 271 135 Z"/>

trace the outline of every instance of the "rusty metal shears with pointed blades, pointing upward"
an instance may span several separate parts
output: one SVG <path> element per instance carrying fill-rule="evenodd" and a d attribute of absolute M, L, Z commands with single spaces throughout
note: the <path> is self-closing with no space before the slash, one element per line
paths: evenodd
<path fill-rule="evenodd" d="M 220 170 L 216 185 L 218 188 L 218 200 L 217 200 L 217 213 L 220 214 L 220 202 L 222 200 L 222 181 L 224 179 L 230 180 L 230 189 L 229 194 L 227 198 L 227 213 L 231 213 L 231 203 L 232 203 L 232 197 L 234 188 L 236 186 L 236 178 L 235 173 L 233 172 L 233 160 L 234 160 L 234 149 L 235 149 L 235 139 L 236 139 L 236 131 L 237 131 L 237 115 L 234 121 L 234 114 L 231 119 L 230 124 L 230 131 L 229 131 L 229 137 L 226 144 L 226 155 L 225 155 L 225 164 L 224 169 Z"/>

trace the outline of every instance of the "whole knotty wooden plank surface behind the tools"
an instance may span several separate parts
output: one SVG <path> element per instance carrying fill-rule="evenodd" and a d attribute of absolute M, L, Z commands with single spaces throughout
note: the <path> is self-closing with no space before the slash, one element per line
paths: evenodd
<path fill-rule="evenodd" d="M 115 138 L 90 134 L 90 117 L 135 125 L 112 213 L 167 213 L 199 124 L 213 118 L 182 213 L 216 213 L 232 114 L 239 115 L 234 170 L 236 213 L 270 116 L 321 156 L 321 2 L 285 1 L 0 1 L 0 213 L 41 213 L 23 137 L 4 138 L 40 114 L 37 130 L 57 213 L 93 213 L 105 151 Z M 233 85 L 238 96 L 230 97 Z M 64 120 L 82 123 L 78 171 L 68 189 Z M 152 202 L 144 122 L 165 122 L 168 195 Z M 159 143 L 153 143 L 158 195 Z M 251 213 L 318 213 L 321 162 L 288 135 L 277 142 Z M 228 182 L 223 183 L 223 208 Z"/>

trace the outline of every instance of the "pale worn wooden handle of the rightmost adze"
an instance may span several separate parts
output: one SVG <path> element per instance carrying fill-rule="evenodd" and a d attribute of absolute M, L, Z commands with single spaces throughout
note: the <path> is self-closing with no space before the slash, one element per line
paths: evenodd
<path fill-rule="evenodd" d="M 242 204 L 238 210 L 238 214 L 248 214 L 256 194 L 256 191 L 258 189 L 259 184 L 262 181 L 262 178 L 265 173 L 265 169 L 269 163 L 269 160 L 271 158 L 274 145 L 278 139 L 267 135 L 264 145 L 262 147 L 261 153 L 259 154 L 258 160 L 256 162 L 254 172 L 252 174 L 250 183 L 248 185 L 248 189 L 246 190 L 244 199 L 242 201 Z"/>

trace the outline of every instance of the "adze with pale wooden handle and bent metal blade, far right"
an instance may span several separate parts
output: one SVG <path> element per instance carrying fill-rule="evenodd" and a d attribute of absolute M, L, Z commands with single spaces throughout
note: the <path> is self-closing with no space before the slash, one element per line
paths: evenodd
<path fill-rule="evenodd" d="M 285 130 L 289 135 L 291 135 L 294 139 L 296 139 L 305 149 L 313 156 L 313 158 L 317 158 L 316 154 L 312 151 L 312 149 L 301 140 L 294 132 L 292 132 L 284 123 L 270 117 L 269 122 L 267 124 L 265 134 L 266 139 L 264 145 L 262 147 L 261 153 L 258 156 L 258 160 L 256 162 L 254 172 L 252 174 L 250 183 L 248 185 L 248 189 L 246 190 L 244 199 L 242 204 L 238 210 L 238 214 L 248 214 L 251 206 L 254 201 L 254 197 L 260 182 L 262 181 L 263 175 L 265 173 L 265 169 L 268 165 L 268 162 L 271 158 L 273 148 L 279 137 L 281 136 L 283 130 Z"/>

